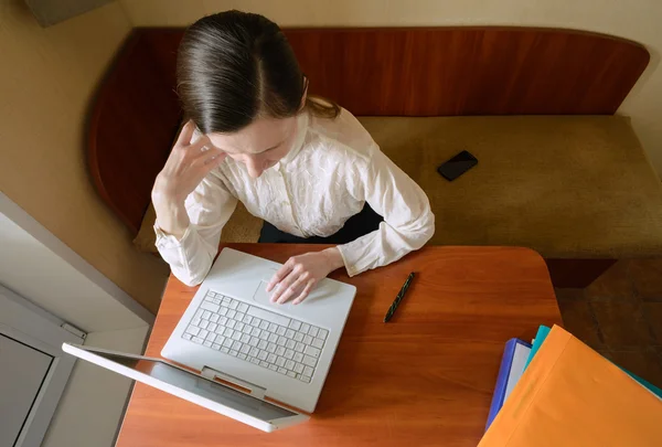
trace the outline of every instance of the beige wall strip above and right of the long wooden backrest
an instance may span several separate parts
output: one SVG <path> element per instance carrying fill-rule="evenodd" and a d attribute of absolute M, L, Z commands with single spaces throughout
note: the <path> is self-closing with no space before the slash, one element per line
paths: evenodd
<path fill-rule="evenodd" d="M 280 25 L 516 24 L 598 31 L 645 44 L 652 63 L 621 107 L 662 174 L 660 0 L 119 0 L 135 25 L 184 25 L 226 10 L 259 12 Z"/>

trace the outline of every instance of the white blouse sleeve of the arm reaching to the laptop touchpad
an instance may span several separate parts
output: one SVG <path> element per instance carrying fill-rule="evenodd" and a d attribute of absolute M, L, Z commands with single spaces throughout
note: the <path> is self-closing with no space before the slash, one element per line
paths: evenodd
<path fill-rule="evenodd" d="M 420 187 L 376 145 L 369 156 L 367 164 L 356 167 L 356 175 L 366 202 L 384 222 L 378 230 L 338 247 L 350 276 L 399 259 L 435 233 L 435 215 Z"/>

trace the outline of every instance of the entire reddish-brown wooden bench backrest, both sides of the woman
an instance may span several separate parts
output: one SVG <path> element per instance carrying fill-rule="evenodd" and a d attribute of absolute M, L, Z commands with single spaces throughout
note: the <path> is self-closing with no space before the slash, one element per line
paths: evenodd
<path fill-rule="evenodd" d="M 181 28 L 135 29 L 89 110 L 103 200 L 134 234 L 175 137 Z M 536 28 L 285 30 L 310 92 L 354 115 L 613 114 L 649 62 L 640 44 Z"/>

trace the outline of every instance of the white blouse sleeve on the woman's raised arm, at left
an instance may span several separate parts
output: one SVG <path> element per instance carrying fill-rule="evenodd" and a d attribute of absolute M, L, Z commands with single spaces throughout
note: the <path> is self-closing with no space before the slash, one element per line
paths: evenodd
<path fill-rule="evenodd" d="M 157 248 L 179 280 L 196 286 L 206 276 L 218 252 L 221 231 L 237 205 L 215 172 L 207 174 L 186 198 L 191 224 L 181 241 L 157 225 Z"/>

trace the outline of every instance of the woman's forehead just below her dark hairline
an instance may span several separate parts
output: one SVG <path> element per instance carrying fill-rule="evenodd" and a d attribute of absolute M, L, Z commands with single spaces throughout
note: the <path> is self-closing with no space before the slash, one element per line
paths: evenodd
<path fill-rule="evenodd" d="M 257 118 L 232 134 L 209 134 L 218 149 L 227 153 L 260 153 L 279 146 L 296 130 L 297 118 Z"/>

